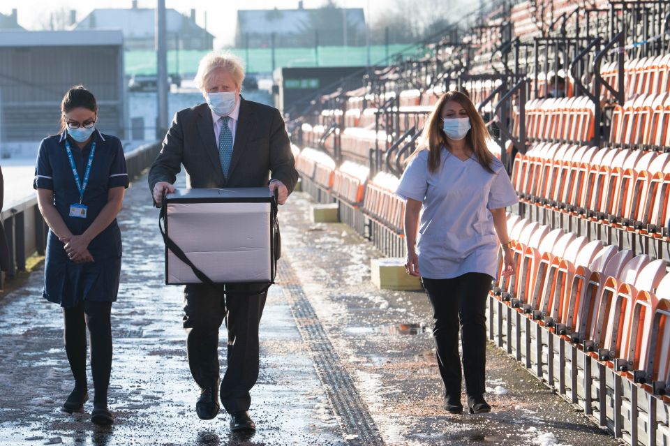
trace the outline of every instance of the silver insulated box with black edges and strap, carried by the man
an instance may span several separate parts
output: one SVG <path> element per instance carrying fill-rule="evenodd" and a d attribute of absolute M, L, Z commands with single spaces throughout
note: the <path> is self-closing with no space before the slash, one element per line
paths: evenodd
<path fill-rule="evenodd" d="M 165 283 L 274 281 L 281 241 L 268 188 L 177 189 L 163 202 Z"/>

